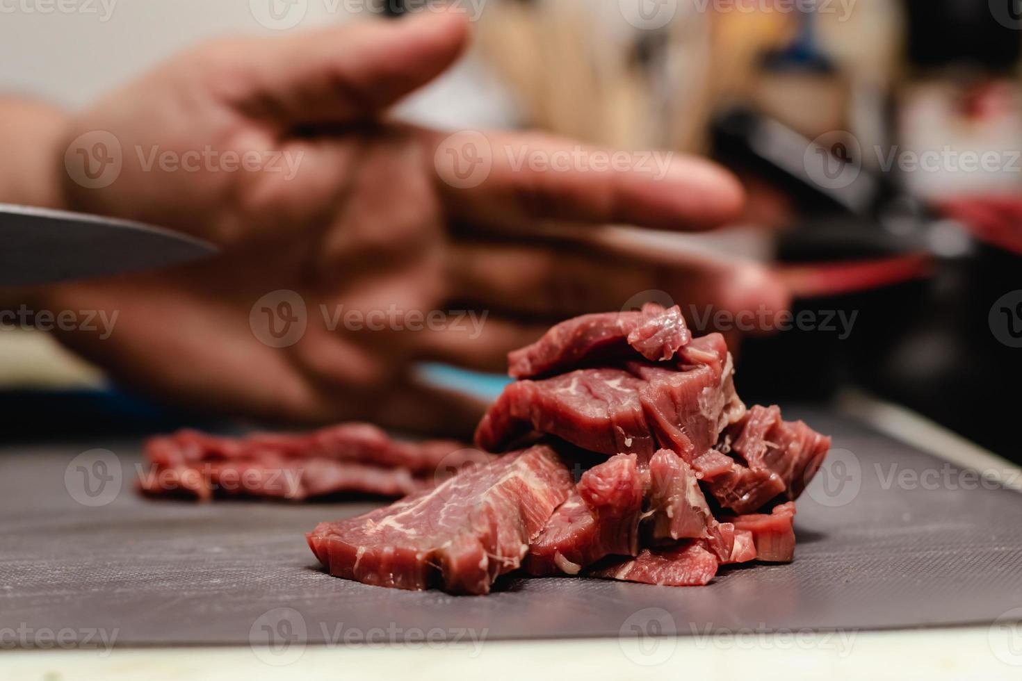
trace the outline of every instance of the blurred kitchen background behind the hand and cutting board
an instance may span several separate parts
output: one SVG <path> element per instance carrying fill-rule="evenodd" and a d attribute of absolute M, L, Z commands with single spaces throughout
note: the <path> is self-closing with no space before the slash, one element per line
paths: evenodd
<path fill-rule="evenodd" d="M 791 286 L 792 328 L 741 348 L 747 401 L 852 387 L 1022 459 L 1010 427 L 1022 407 L 1022 4 L 462 4 L 476 19 L 472 50 L 398 115 L 697 153 L 741 177 L 740 224 L 655 245 L 771 261 Z M 275 16 L 312 28 L 421 10 L 415 0 L 93 6 L 0 15 L 0 91 L 79 108 L 203 39 L 273 34 Z M 7 414 L 37 412 L 44 386 L 63 391 L 64 417 L 82 424 L 130 414 L 151 431 L 168 418 L 42 334 L 0 334 L 0 344 Z"/>

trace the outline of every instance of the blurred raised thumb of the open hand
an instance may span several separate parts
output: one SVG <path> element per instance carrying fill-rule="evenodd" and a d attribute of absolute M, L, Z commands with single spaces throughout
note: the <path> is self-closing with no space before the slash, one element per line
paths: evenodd
<path fill-rule="evenodd" d="M 203 55 L 242 110 L 284 126 L 378 113 L 450 66 L 468 41 L 458 12 L 357 21 L 276 40 L 215 44 Z"/>

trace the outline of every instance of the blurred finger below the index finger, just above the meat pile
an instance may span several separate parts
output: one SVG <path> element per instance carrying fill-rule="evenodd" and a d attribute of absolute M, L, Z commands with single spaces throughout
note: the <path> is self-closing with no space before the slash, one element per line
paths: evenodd
<path fill-rule="evenodd" d="M 643 293 L 663 292 L 702 333 L 718 311 L 770 317 L 789 294 L 770 270 L 747 261 L 676 255 L 651 260 L 619 253 L 531 245 L 459 243 L 452 247 L 452 295 L 482 309 L 565 318 L 621 309 Z M 698 318 L 698 319 L 692 319 Z M 769 327 L 769 324 L 761 325 Z"/>

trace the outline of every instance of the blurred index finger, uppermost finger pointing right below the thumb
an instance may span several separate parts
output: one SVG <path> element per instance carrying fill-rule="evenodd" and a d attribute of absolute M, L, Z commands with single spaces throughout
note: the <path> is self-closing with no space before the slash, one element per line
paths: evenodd
<path fill-rule="evenodd" d="M 730 173 L 682 154 L 611 152 L 539 135 L 427 136 L 449 210 L 475 224 L 559 220 L 700 230 L 734 218 L 744 201 Z"/>

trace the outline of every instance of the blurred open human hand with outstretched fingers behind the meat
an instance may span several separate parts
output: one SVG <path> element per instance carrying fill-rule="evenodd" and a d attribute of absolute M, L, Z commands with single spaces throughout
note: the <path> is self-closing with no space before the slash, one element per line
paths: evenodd
<path fill-rule="evenodd" d="M 61 340 L 122 381 L 192 407 L 466 433 L 481 405 L 423 385 L 418 361 L 503 371 L 507 351 L 551 321 L 620 308 L 649 290 L 732 311 L 787 304 L 757 265 L 625 253 L 590 239 L 608 223 L 689 230 L 732 218 L 741 189 L 710 163 L 672 156 L 662 177 L 635 166 L 516 167 L 523 153 L 598 151 L 388 120 L 387 107 L 445 70 L 466 40 L 461 17 L 433 14 L 219 42 L 80 116 L 68 139 L 112 136 L 123 164 L 102 188 L 71 173 L 71 207 L 224 250 L 175 271 L 53 288 L 54 308 L 119 311 L 108 338 Z M 492 166 L 464 186 L 449 163 L 469 158 L 463 141 L 480 137 Z M 188 152 L 221 161 L 253 153 L 267 163 L 228 173 L 199 160 L 190 172 L 160 163 L 164 152 L 182 162 Z M 297 159 L 293 173 L 271 169 L 271 157 Z M 251 317 L 279 290 L 294 291 L 307 310 L 305 333 L 286 347 L 268 344 Z M 483 322 L 455 324 L 452 309 Z M 381 311 L 383 328 L 367 328 Z M 411 315 L 427 314 L 432 328 L 410 330 Z"/>

